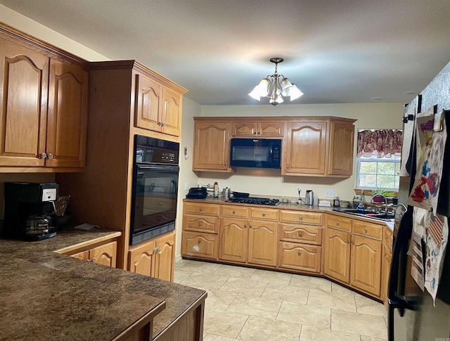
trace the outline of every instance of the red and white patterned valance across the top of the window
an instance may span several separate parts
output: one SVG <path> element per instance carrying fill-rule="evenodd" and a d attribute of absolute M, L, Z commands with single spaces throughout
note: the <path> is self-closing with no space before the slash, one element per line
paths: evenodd
<path fill-rule="evenodd" d="M 401 155 L 402 131 L 397 129 L 370 129 L 358 131 L 356 157 L 392 157 Z"/>

